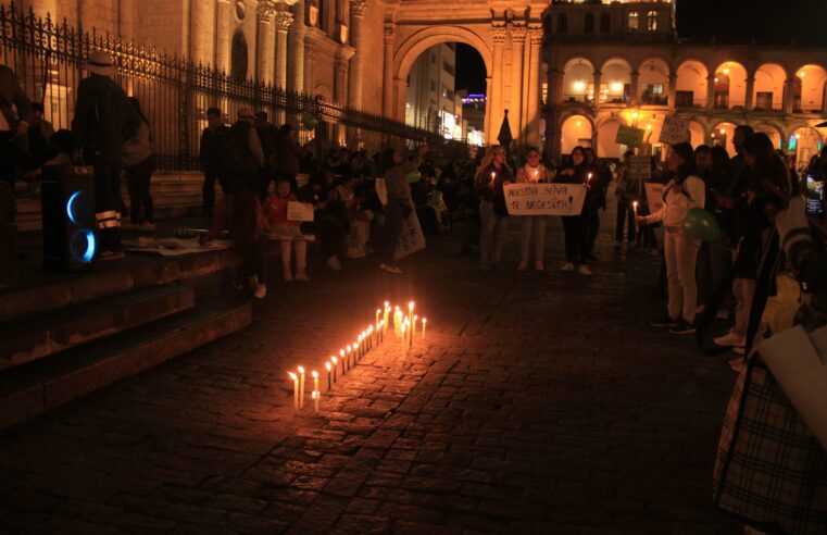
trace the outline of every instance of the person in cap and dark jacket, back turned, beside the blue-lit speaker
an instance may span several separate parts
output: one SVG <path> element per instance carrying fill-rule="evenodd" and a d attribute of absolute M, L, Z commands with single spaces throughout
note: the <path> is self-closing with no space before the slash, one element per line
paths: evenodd
<path fill-rule="evenodd" d="M 74 159 L 95 167 L 95 216 L 98 223 L 98 250 L 101 260 L 120 258 L 121 252 L 121 169 L 124 141 L 140 126 L 141 120 L 124 90 L 110 76 L 117 72 L 112 58 L 95 51 L 85 69 L 89 76 L 77 86 L 72 134 Z"/>

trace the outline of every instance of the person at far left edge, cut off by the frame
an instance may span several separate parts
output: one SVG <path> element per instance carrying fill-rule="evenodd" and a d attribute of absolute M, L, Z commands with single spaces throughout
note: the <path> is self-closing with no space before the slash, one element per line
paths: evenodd
<path fill-rule="evenodd" d="M 12 195 L 20 163 L 16 147 L 26 139 L 30 122 L 32 102 L 17 83 L 14 71 L 0 65 L 0 182 L 9 184 Z M 11 211 L 0 216 L 11 219 Z"/>

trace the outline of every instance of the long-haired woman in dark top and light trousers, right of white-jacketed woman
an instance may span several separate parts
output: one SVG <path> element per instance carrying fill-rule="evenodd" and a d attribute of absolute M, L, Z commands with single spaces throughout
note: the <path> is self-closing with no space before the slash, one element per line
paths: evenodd
<path fill-rule="evenodd" d="M 738 204 L 744 221 L 744 233 L 737 247 L 734 266 L 735 324 L 728 333 L 714 339 L 716 345 L 730 347 L 737 353 L 743 352 L 747 343 L 755 277 L 763 250 L 762 235 L 773 224 L 775 213 L 782 208 L 778 192 L 789 195 L 791 189 L 790 172 L 766 134 L 750 135 L 741 151 L 749 171 L 743 196 L 738 200 L 722 199 L 728 207 L 738 209 Z"/>

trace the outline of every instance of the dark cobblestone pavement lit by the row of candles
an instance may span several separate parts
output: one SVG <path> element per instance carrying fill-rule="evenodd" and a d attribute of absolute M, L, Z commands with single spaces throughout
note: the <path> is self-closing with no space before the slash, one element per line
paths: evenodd
<path fill-rule="evenodd" d="M 542 275 L 442 237 L 400 277 L 271 286 L 247 331 L 0 433 L 0 531 L 739 533 L 711 505 L 735 375 L 648 326 L 659 261 L 603 234 L 586 278 L 557 224 L 548 248 Z M 409 297 L 427 339 L 293 416 L 286 371 Z"/>

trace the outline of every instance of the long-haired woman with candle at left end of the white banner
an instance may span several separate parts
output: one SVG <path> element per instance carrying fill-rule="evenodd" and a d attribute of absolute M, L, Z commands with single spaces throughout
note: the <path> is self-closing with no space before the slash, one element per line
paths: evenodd
<path fill-rule="evenodd" d="M 488 271 L 500 263 L 502 245 L 509 228 L 503 186 L 514 182 L 511 167 L 505 163 L 505 148 L 491 146 L 486 152 L 475 177 L 479 194 L 479 265 Z"/>

